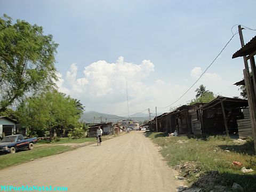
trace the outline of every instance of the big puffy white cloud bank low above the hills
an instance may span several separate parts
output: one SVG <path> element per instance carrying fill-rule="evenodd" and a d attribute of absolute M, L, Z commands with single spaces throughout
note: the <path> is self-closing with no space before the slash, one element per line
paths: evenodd
<path fill-rule="evenodd" d="M 73 63 L 66 76 L 57 74 L 60 81 L 56 84 L 59 91 L 81 100 L 85 110 L 117 115 L 127 115 L 127 87 L 131 115 L 131 111 L 147 110 L 147 108 L 154 110 L 155 107 L 159 107 L 158 112 L 169 111 L 170 107 L 166 106 L 180 98 L 202 74 L 201 67 L 195 67 L 191 69 L 190 77 L 189 74 L 180 77 L 188 78 L 188 81 L 168 82 L 162 77 L 152 79 L 154 68 L 154 63 L 150 60 L 132 63 L 125 62 L 123 57 L 119 57 L 115 63 L 99 60 L 85 66 L 83 76 L 78 78 L 77 71 L 81 69 Z M 200 84 L 204 84 L 207 90 L 215 94 L 222 93 L 227 97 L 237 95 L 235 94 L 237 91 L 234 91 L 237 88 L 234 86 L 230 90 L 231 84 L 227 79 L 223 80 L 217 73 L 205 73 L 197 84 L 173 106 L 185 105 L 189 100 L 194 99 L 195 90 Z M 221 90 L 226 91 L 221 92 Z"/>

